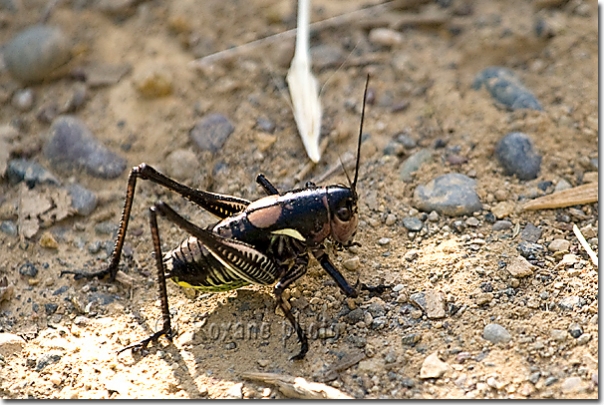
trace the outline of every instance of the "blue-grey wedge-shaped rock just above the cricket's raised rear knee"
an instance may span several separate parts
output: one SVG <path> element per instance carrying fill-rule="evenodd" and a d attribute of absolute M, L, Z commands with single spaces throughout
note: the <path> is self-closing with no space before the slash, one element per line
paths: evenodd
<path fill-rule="evenodd" d="M 70 115 L 54 120 L 44 154 L 54 167 L 84 168 L 90 175 L 104 179 L 113 179 L 126 168 L 122 157 L 107 149 L 81 120 Z"/>

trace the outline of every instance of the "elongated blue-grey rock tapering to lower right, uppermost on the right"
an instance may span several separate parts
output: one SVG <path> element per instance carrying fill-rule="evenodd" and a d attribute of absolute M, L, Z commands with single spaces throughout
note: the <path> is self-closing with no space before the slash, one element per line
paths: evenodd
<path fill-rule="evenodd" d="M 476 75 L 472 87 L 479 90 L 483 84 L 491 96 L 507 108 L 543 110 L 533 93 L 524 87 L 520 78 L 510 69 L 498 66 L 484 69 Z"/>

